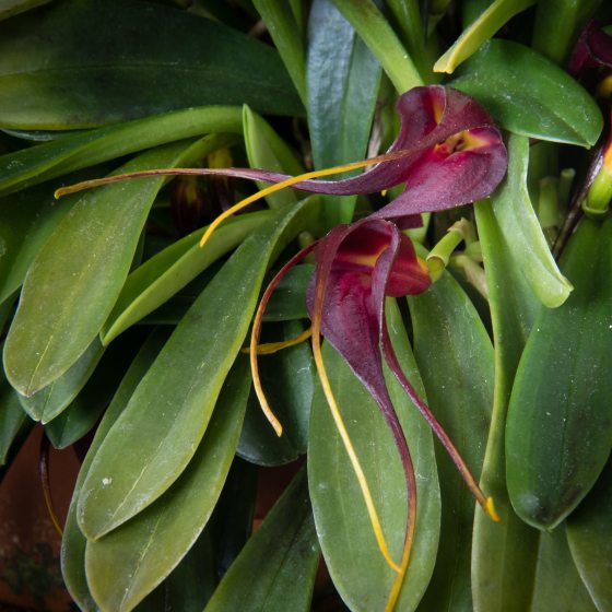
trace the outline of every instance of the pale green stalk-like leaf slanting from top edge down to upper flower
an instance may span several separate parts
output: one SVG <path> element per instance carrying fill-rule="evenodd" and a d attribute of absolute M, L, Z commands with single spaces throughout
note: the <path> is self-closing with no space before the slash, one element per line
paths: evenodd
<path fill-rule="evenodd" d="M 333 0 L 369 47 L 399 93 L 423 84 L 414 62 L 374 0 Z"/>

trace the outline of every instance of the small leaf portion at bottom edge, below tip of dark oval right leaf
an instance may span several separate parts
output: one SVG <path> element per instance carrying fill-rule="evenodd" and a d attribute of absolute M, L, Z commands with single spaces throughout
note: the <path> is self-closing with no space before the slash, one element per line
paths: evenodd
<path fill-rule="evenodd" d="M 549 612 L 551 602 L 558 602 L 557 609 L 568 612 L 597 612 L 574 565 L 563 525 L 540 534 L 534 584 L 530 612 Z"/>

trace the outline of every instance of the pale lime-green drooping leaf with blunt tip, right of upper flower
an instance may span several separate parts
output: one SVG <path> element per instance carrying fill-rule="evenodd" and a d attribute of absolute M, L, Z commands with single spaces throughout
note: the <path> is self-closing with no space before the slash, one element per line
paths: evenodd
<path fill-rule="evenodd" d="M 514 266 L 525 274 L 540 302 L 555 308 L 567 299 L 572 283 L 560 272 L 531 205 L 528 165 L 529 139 L 510 134 L 508 174 L 491 201 Z"/>

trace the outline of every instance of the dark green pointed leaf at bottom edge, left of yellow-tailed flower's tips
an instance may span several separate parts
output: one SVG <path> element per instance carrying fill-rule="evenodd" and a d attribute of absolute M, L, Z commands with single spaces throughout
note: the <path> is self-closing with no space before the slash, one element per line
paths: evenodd
<path fill-rule="evenodd" d="M 319 545 L 303 470 L 231 565 L 205 612 L 307 612 L 318 561 Z"/>

